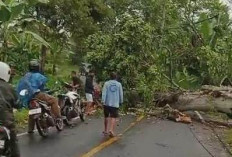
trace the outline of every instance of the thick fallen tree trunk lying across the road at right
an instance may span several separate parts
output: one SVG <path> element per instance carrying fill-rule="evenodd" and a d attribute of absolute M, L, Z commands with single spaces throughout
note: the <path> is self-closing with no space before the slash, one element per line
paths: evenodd
<path fill-rule="evenodd" d="M 169 104 L 179 111 L 218 111 L 232 115 L 232 88 L 203 86 L 197 92 L 159 93 L 155 95 L 155 105 Z"/>

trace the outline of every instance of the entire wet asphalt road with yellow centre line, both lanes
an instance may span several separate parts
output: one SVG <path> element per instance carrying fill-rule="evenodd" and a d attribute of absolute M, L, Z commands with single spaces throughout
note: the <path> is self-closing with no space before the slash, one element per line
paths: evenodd
<path fill-rule="evenodd" d="M 79 122 L 61 133 L 52 130 L 46 139 L 37 133 L 20 136 L 22 157 L 82 157 L 88 152 L 96 157 L 211 157 L 188 125 L 155 119 L 132 123 L 135 120 L 133 116 L 122 118 L 117 132 L 129 129 L 114 143 L 102 136 L 101 118 Z"/>

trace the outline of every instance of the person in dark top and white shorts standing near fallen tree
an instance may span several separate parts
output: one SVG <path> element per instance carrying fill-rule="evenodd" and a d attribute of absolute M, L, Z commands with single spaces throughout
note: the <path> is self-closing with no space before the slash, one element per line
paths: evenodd
<path fill-rule="evenodd" d="M 85 81 L 85 95 L 87 100 L 86 114 L 91 114 L 90 108 L 93 104 L 93 92 L 94 92 L 93 79 L 94 79 L 94 71 L 90 70 Z"/>

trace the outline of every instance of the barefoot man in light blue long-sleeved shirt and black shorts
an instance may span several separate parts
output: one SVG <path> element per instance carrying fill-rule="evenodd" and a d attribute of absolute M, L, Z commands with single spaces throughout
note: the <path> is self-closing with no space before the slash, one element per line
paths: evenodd
<path fill-rule="evenodd" d="M 118 118 L 119 106 L 123 103 L 123 89 L 117 81 L 115 72 L 110 74 L 110 80 L 105 82 L 102 91 L 102 102 L 104 106 L 104 131 L 103 134 L 115 136 L 116 119 Z"/>

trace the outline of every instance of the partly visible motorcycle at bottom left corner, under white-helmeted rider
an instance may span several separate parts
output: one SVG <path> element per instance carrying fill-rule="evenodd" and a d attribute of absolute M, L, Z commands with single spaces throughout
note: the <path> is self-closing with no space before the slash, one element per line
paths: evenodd
<path fill-rule="evenodd" d="M 0 126 L 0 156 L 10 157 L 10 130 L 4 126 Z"/>

